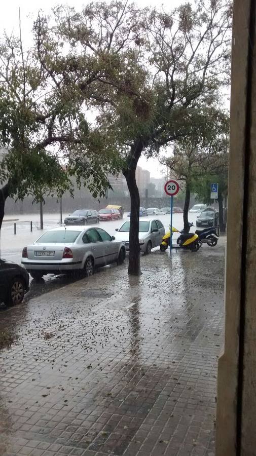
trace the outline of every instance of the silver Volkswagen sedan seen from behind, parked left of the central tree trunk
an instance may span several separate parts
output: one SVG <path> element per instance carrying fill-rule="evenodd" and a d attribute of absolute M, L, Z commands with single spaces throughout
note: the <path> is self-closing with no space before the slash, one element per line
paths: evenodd
<path fill-rule="evenodd" d="M 102 228 L 61 226 L 24 247 L 21 262 L 34 279 L 39 279 L 45 274 L 78 270 L 90 276 L 94 268 L 124 259 L 124 244 Z"/>

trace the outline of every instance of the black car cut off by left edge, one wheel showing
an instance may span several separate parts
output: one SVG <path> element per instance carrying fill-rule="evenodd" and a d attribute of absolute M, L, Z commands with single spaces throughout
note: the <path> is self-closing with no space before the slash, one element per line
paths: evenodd
<path fill-rule="evenodd" d="M 0 302 L 8 306 L 20 304 L 29 290 L 29 275 L 19 264 L 0 260 Z"/>

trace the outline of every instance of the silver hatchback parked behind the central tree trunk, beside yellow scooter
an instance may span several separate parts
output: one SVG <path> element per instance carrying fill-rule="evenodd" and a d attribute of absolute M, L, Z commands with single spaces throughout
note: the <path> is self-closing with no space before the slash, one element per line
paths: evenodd
<path fill-rule="evenodd" d="M 124 222 L 116 231 L 116 239 L 123 241 L 126 250 L 129 250 L 130 221 Z M 151 253 L 153 247 L 161 244 L 164 235 L 165 229 L 160 220 L 139 220 L 139 246 L 141 252 L 145 254 Z"/>

